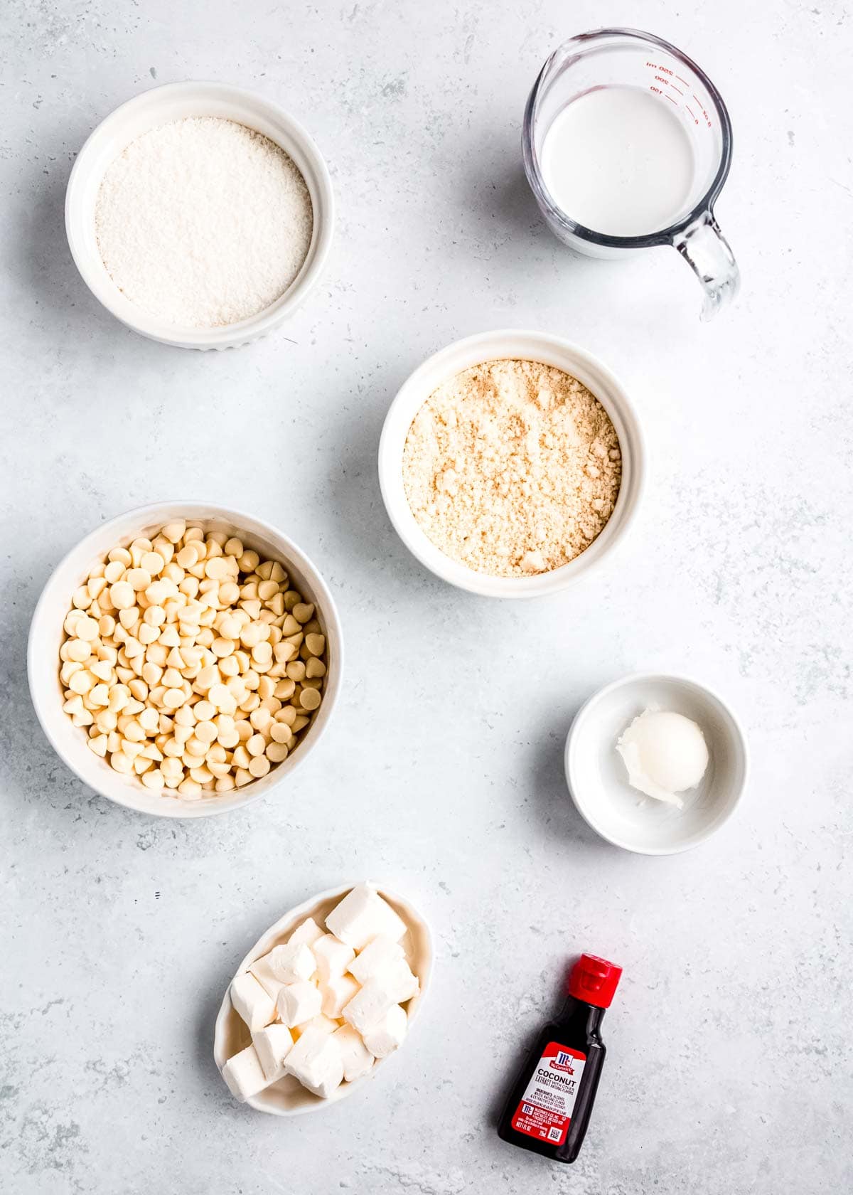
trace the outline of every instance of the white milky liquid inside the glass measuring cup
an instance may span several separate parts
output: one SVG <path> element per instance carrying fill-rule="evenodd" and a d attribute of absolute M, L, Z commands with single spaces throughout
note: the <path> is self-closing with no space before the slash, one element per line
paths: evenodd
<path fill-rule="evenodd" d="M 658 232 L 683 215 L 694 155 L 675 108 L 640 87 L 597 87 L 545 134 L 542 178 L 576 223 L 609 237 Z"/>

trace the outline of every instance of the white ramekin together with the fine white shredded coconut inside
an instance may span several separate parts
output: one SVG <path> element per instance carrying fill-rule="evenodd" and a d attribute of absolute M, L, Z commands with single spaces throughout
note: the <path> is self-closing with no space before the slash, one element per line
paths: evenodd
<path fill-rule="evenodd" d="M 94 296 L 180 348 L 234 348 L 286 320 L 319 281 L 333 223 L 311 136 L 225 84 L 170 84 L 116 109 L 66 194 L 68 244 Z"/>

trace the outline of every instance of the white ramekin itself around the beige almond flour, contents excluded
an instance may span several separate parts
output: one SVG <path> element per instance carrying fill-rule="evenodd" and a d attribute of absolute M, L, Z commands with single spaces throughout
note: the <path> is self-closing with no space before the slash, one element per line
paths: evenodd
<path fill-rule="evenodd" d="M 403 484 L 403 451 L 412 419 L 443 381 L 483 361 L 517 357 L 556 366 L 577 378 L 605 407 L 619 436 L 622 480 L 607 526 L 573 560 L 533 577 L 493 577 L 475 572 L 446 556 L 421 529 Z M 443 581 L 484 598 L 539 598 L 573 584 L 603 559 L 624 538 L 637 513 L 643 489 L 644 447 L 637 416 L 622 385 L 584 349 L 546 332 L 499 330 L 456 341 L 428 357 L 403 384 L 382 427 L 379 445 L 379 483 L 397 534 L 412 556 Z"/>

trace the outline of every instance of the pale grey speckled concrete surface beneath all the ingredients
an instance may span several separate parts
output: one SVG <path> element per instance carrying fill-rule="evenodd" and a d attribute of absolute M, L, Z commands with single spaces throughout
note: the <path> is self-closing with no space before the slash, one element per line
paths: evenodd
<path fill-rule="evenodd" d="M 0 1187 L 849 1189 L 849 10 L 10 0 L 1 19 Z M 730 105 L 718 214 L 744 289 L 717 324 L 698 323 L 675 253 L 581 261 L 523 185 L 520 118 L 541 61 L 606 23 L 670 38 Z M 125 331 L 65 240 L 86 135 L 185 78 L 283 103 L 339 198 L 324 284 L 284 335 L 237 353 Z M 624 553 L 534 605 L 425 574 L 374 468 L 406 374 L 501 325 L 599 353 L 634 393 L 652 458 Z M 325 748 L 290 790 L 188 825 L 84 789 L 35 724 L 24 663 L 60 556 L 102 519 L 176 496 L 246 507 L 303 544 L 349 650 Z M 753 749 L 740 816 L 671 859 L 597 840 L 561 778 L 573 711 L 636 668 L 718 687 Z M 319 1116 L 240 1108 L 210 1055 L 233 967 L 283 909 L 366 875 L 409 893 L 437 936 L 405 1054 Z M 493 1119 L 584 948 L 625 979 L 587 1146 L 550 1168 L 501 1144 Z"/>

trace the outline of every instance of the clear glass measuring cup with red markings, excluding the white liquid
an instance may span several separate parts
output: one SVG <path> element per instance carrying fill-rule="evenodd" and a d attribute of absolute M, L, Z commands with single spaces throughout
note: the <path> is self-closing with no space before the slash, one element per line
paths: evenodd
<path fill-rule="evenodd" d="M 644 235 L 615 237 L 572 220 L 548 191 L 542 145 L 557 116 L 589 92 L 638 87 L 667 105 L 683 125 L 693 176 L 682 208 L 668 227 Z M 597 29 L 564 42 L 547 60 L 524 110 L 524 173 L 551 231 L 590 257 L 622 257 L 634 250 L 673 245 L 705 290 L 702 319 L 711 319 L 737 293 L 740 271 L 714 219 L 713 206 L 731 164 L 731 122 L 707 78 L 674 45 L 636 29 Z"/>

